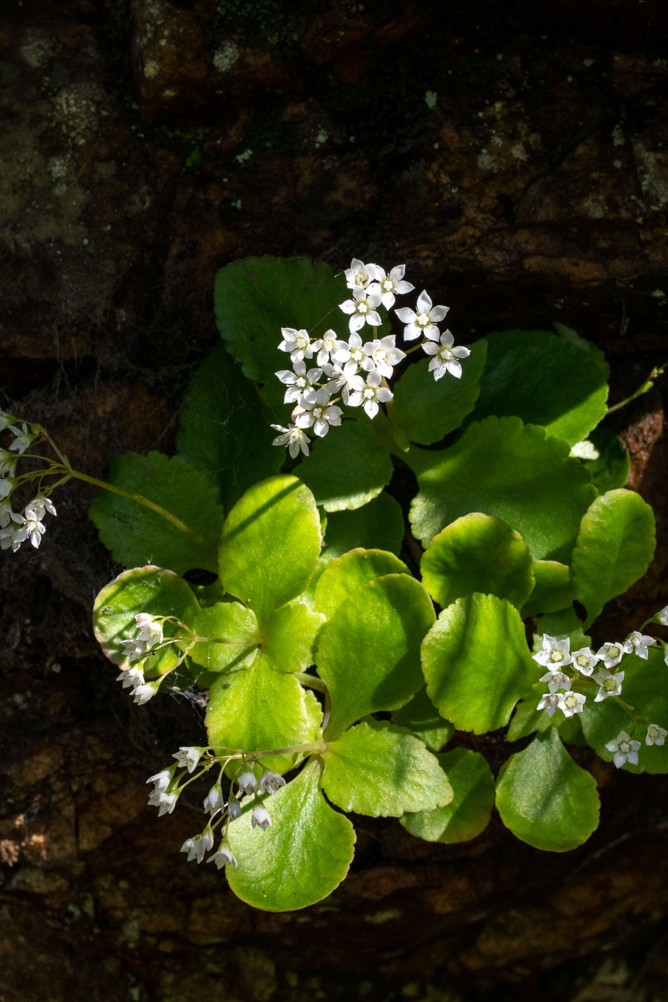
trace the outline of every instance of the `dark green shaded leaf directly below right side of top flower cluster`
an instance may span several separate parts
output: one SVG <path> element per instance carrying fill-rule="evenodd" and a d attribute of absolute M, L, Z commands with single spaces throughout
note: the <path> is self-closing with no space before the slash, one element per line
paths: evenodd
<path fill-rule="evenodd" d="M 486 358 L 487 342 L 479 341 L 462 363 L 462 378 L 447 374 L 438 383 L 427 359 L 409 366 L 395 385 L 395 417 L 412 442 L 431 445 L 460 427 L 478 399 Z"/>

